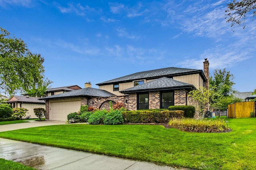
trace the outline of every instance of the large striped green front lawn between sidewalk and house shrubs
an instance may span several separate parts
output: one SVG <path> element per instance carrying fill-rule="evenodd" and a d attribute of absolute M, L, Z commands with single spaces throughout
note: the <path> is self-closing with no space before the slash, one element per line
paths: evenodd
<path fill-rule="evenodd" d="M 1 132 L 0 137 L 194 169 L 256 169 L 256 118 L 228 119 L 229 133 L 160 125 L 68 124 Z"/>

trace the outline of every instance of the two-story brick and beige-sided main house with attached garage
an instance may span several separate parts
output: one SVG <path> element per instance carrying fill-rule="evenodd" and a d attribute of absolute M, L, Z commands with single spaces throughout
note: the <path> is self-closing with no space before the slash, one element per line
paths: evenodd
<path fill-rule="evenodd" d="M 39 100 L 46 101 L 46 119 L 62 121 L 69 113 L 79 111 L 81 105 L 108 109 L 109 101 L 122 102 L 128 110 L 196 106 L 198 103 L 188 97 L 188 92 L 200 86 L 208 88 L 208 76 L 209 62 L 205 59 L 204 71 L 169 67 L 137 72 L 98 83 L 99 89 L 86 83 L 84 89 Z"/>

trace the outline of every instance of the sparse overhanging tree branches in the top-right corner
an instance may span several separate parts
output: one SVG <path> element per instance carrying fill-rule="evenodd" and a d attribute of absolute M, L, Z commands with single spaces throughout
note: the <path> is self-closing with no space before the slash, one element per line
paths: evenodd
<path fill-rule="evenodd" d="M 231 27 L 234 24 L 244 25 L 246 16 L 256 15 L 256 0 L 233 0 L 230 4 L 227 5 L 226 9 L 226 19 L 227 22 L 231 22 Z"/>

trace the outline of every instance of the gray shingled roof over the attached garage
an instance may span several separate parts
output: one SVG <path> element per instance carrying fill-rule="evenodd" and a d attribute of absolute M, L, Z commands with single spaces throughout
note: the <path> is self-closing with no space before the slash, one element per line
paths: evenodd
<path fill-rule="evenodd" d="M 83 97 L 83 96 L 89 96 L 89 97 L 112 97 L 116 96 L 110 92 L 107 92 L 106 90 L 100 90 L 96 88 L 82 88 L 80 90 L 74 90 L 62 94 L 56 94 L 53 96 L 48 96 L 45 98 L 41 98 L 40 100 L 52 100 L 52 99 L 60 99 L 60 98 L 76 98 L 76 97 Z"/>

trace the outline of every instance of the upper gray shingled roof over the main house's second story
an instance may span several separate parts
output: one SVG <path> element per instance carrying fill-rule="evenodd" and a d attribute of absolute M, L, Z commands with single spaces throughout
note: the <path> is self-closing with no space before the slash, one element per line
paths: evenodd
<path fill-rule="evenodd" d="M 102 86 L 107 84 L 113 84 L 115 82 L 130 82 L 132 80 L 141 80 L 141 79 L 155 79 L 161 77 L 172 77 L 172 76 L 181 76 L 187 74 L 196 74 L 199 73 L 204 80 L 206 80 L 206 76 L 203 70 L 189 69 L 189 68 L 176 68 L 176 67 L 168 67 L 168 68 L 160 68 L 156 70 L 149 70 L 143 72 L 136 72 L 134 74 L 130 74 L 127 76 L 115 78 L 113 80 L 108 80 L 105 82 L 98 83 L 96 85 Z"/>

